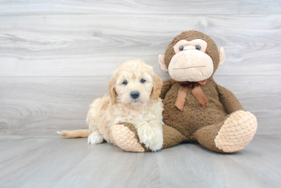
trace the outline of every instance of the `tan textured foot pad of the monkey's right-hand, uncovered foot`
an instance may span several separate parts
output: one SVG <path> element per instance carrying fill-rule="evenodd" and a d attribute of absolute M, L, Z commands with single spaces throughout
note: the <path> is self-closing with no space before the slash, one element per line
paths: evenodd
<path fill-rule="evenodd" d="M 228 115 L 215 138 L 216 147 L 226 153 L 240 151 L 252 140 L 256 128 L 256 118 L 251 112 L 233 112 Z"/>

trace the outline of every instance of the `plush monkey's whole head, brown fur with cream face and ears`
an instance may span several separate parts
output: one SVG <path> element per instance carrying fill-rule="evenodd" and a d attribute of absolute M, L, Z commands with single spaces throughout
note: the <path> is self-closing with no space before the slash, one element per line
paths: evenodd
<path fill-rule="evenodd" d="M 168 45 L 165 56 L 159 55 L 161 69 L 178 82 L 198 82 L 210 78 L 225 59 L 223 48 L 208 35 L 185 31 Z"/>

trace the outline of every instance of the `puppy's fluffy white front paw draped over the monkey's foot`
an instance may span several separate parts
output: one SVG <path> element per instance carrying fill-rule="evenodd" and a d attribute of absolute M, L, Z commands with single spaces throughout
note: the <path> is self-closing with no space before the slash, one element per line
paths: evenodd
<path fill-rule="evenodd" d="M 151 151 L 157 151 L 162 148 L 162 126 L 150 124 L 150 126 L 138 127 L 137 134 L 140 143 L 143 143 L 145 147 L 150 149 Z"/>

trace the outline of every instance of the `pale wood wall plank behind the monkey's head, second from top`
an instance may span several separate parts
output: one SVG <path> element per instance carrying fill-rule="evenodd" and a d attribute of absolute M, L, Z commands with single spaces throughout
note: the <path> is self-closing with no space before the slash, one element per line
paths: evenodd
<path fill-rule="evenodd" d="M 111 76 L 128 59 L 158 65 L 169 42 L 197 30 L 223 46 L 216 75 L 280 75 L 281 14 L 69 14 L 0 17 L 0 76 Z"/>

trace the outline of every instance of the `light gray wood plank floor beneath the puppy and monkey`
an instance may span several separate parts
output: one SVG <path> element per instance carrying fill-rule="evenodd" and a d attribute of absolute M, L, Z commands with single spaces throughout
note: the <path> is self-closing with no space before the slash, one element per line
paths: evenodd
<path fill-rule="evenodd" d="M 281 136 L 255 136 L 242 151 L 183 143 L 130 153 L 86 138 L 0 136 L 0 187 L 280 187 Z"/>

